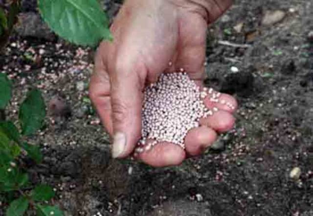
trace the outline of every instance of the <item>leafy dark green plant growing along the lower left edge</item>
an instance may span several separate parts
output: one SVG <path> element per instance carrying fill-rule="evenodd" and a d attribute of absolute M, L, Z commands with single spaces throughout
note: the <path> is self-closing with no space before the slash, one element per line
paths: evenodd
<path fill-rule="evenodd" d="M 0 86 L 0 109 L 4 110 L 12 96 L 12 83 L 2 73 Z M 9 203 L 4 208 L 6 216 L 22 216 L 28 208 L 35 209 L 38 216 L 63 216 L 57 206 L 45 204 L 55 195 L 53 189 L 44 184 L 31 187 L 28 174 L 20 165 L 22 153 L 41 163 L 39 147 L 25 140 L 41 129 L 44 118 L 44 99 L 38 89 L 33 89 L 20 106 L 21 130 L 10 120 L 0 121 L 0 202 L 2 206 Z"/>

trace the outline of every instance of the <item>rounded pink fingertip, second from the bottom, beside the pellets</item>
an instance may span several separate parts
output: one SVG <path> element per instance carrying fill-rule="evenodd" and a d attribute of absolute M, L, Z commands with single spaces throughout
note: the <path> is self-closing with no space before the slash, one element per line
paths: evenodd
<path fill-rule="evenodd" d="M 205 126 L 191 129 L 185 137 L 186 152 L 192 156 L 199 155 L 217 139 L 217 133 Z"/>

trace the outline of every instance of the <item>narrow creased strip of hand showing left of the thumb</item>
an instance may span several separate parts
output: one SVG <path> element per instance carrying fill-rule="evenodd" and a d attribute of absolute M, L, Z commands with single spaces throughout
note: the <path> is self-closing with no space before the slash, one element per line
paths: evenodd
<path fill-rule="evenodd" d="M 106 130 L 112 135 L 110 78 L 99 52 L 95 55 L 95 67 L 90 80 L 89 97 Z"/>

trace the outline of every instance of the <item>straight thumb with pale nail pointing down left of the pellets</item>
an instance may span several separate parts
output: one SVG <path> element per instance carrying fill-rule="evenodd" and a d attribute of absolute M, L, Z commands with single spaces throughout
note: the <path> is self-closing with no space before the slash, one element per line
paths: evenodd
<path fill-rule="evenodd" d="M 112 156 L 128 156 L 141 136 L 141 106 L 144 78 L 138 70 L 119 69 L 111 77 L 113 123 Z"/>

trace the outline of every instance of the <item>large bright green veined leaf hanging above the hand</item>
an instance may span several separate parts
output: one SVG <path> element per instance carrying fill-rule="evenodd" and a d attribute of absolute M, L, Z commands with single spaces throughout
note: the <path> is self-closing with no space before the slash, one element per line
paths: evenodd
<path fill-rule="evenodd" d="M 97 0 L 38 0 L 38 7 L 49 27 L 70 42 L 94 46 L 102 39 L 112 40 Z"/>

